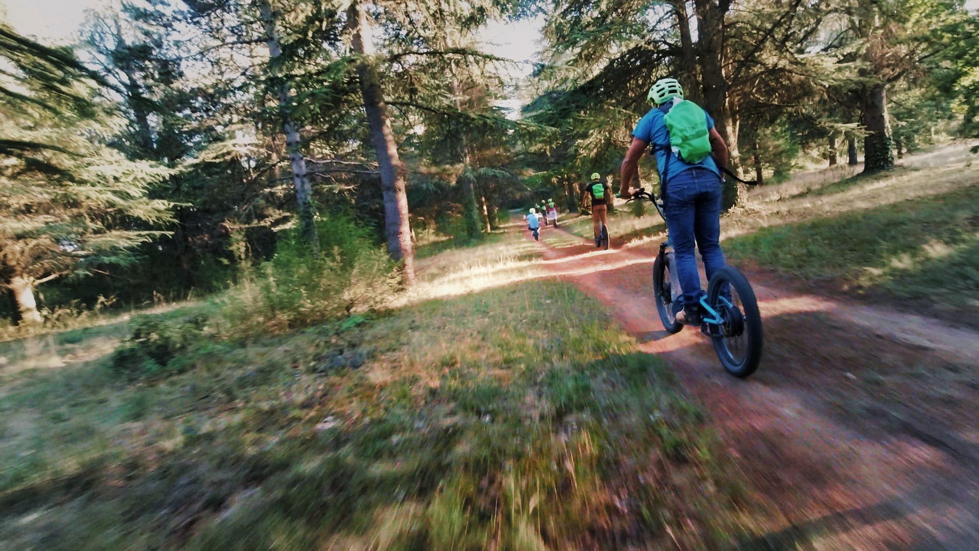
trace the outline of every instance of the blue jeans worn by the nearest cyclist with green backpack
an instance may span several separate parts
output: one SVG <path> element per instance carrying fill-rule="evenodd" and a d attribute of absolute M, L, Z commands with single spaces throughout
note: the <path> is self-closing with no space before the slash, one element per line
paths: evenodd
<path fill-rule="evenodd" d="M 676 278 L 683 292 L 681 303 L 691 307 L 700 300 L 700 274 L 694 242 L 704 259 L 707 278 L 722 269 L 721 177 L 707 169 L 687 169 L 667 180 L 667 226 L 676 258 Z"/>

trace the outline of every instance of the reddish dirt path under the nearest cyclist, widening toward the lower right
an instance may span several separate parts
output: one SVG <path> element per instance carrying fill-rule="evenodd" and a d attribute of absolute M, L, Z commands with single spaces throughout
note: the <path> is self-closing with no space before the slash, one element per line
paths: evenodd
<path fill-rule="evenodd" d="M 766 515 L 744 548 L 979 549 L 979 334 L 747 274 L 765 355 L 726 375 L 706 337 L 663 330 L 656 248 L 539 244 L 544 266 L 667 359 L 711 412 Z M 576 238 L 577 239 L 577 238 Z"/>

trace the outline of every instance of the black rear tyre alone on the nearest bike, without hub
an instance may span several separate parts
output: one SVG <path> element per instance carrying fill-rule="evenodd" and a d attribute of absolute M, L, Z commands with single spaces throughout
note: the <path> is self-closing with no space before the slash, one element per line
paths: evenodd
<path fill-rule="evenodd" d="M 719 270 L 707 285 L 707 301 L 712 306 L 720 301 L 718 296 L 724 283 L 730 283 L 731 287 L 741 299 L 741 308 L 744 314 L 744 330 L 748 332 L 747 351 L 744 359 L 740 363 L 735 362 L 724 345 L 723 337 L 712 337 L 711 344 L 714 345 L 714 352 L 717 353 L 721 364 L 727 373 L 732 376 L 746 377 L 755 373 L 758 364 L 762 361 L 762 315 L 758 311 L 758 299 L 755 291 L 751 288 L 748 278 L 731 266 L 725 266 Z"/>

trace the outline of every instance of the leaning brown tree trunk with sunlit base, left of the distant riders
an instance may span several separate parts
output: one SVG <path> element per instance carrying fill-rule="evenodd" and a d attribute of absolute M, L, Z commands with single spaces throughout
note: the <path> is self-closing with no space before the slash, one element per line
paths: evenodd
<path fill-rule="evenodd" d="M 351 32 L 350 45 L 353 53 L 360 57 L 356 64 L 360 94 L 363 96 L 371 143 L 377 153 L 377 164 L 381 171 L 388 253 L 396 261 L 401 262 L 402 284 L 411 286 L 415 282 L 415 248 L 411 243 L 411 227 L 408 223 L 408 196 L 405 193 L 407 181 L 404 177 L 406 171 L 397 155 L 391 118 L 381 91 L 381 79 L 369 57 L 374 53 L 374 47 L 370 42 L 370 36 L 364 36 L 367 22 L 364 21 L 358 2 L 350 4 L 347 15 Z"/>

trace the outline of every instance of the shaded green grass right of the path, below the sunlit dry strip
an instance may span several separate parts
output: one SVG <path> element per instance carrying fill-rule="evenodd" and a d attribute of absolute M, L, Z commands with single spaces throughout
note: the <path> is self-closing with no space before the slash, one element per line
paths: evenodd
<path fill-rule="evenodd" d="M 735 261 L 857 293 L 882 293 L 944 317 L 979 313 L 979 187 L 759 229 L 724 241 Z"/>

